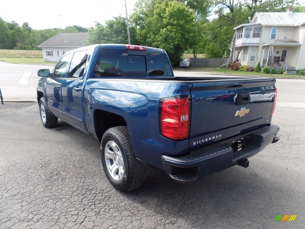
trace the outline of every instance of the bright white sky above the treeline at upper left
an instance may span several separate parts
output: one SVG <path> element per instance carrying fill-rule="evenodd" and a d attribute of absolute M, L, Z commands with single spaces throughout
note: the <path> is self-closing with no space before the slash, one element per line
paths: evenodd
<path fill-rule="evenodd" d="M 126 0 L 127 14 L 132 13 L 138 0 Z M 304 0 L 305 1 L 305 0 Z M 124 0 L 0 0 L 0 16 L 14 20 L 20 26 L 27 22 L 33 29 L 65 28 L 78 25 L 95 27 L 95 21 L 126 16 Z"/>

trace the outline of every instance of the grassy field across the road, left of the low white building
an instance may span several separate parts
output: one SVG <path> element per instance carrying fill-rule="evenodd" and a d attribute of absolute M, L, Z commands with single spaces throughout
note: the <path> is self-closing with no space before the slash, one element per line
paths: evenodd
<path fill-rule="evenodd" d="M 41 50 L 0 49 L 0 61 L 13 64 L 56 64 L 56 62 L 43 61 Z"/>

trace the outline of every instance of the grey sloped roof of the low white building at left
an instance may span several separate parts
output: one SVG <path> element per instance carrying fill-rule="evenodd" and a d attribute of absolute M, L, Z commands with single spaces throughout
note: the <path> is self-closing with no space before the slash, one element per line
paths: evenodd
<path fill-rule="evenodd" d="M 59 33 L 37 47 L 82 47 L 88 33 Z"/>

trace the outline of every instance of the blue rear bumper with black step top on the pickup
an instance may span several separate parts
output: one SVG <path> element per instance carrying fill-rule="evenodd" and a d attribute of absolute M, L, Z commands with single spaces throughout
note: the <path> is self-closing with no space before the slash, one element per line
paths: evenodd
<path fill-rule="evenodd" d="M 163 169 L 174 181 L 190 183 L 199 176 L 220 172 L 236 164 L 241 165 L 267 145 L 277 142 L 278 131 L 278 126 L 270 125 L 217 145 L 197 149 L 183 157 L 163 155 L 161 157 Z M 244 141 L 245 147 L 239 151 L 233 150 L 231 144 L 238 141 Z M 247 164 L 249 165 L 249 162 Z"/>

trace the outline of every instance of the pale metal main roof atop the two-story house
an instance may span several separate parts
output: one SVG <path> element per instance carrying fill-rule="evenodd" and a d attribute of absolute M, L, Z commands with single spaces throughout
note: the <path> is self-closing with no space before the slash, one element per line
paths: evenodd
<path fill-rule="evenodd" d="M 294 26 L 297 22 L 302 23 L 303 21 L 303 23 L 305 23 L 304 16 L 305 13 L 257 12 L 251 22 L 259 22 L 262 25 Z"/>

